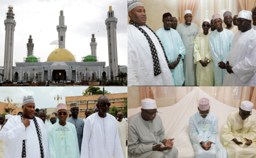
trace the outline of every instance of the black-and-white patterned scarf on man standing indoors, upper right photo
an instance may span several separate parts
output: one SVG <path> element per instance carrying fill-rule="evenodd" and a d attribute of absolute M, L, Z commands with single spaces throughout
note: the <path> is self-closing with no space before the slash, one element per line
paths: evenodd
<path fill-rule="evenodd" d="M 150 50 L 151 50 L 152 59 L 153 59 L 154 76 L 157 76 L 158 74 L 161 73 L 161 70 L 160 70 L 160 64 L 159 64 L 159 60 L 158 60 L 157 50 L 155 48 L 154 43 L 152 42 L 151 38 L 148 36 L 146 31 L 143 30 L 143 28 L 141 28 L 139 25 L 137 25 L 136 23 L 134 23 L 131 20 L 130 20 L 130 24 L 134 25 L 136 28 L 138 28 L 140 30 L 140 32 L 143 33 L 144 36 L 146 37 L 146 39 L 148 40 Z M 158 38 L 157 34 L 150 27 L 148 27 L 148 25 L 144 25 L 144 26 L 146 26 L 150 31 L 152 31 L 154 33 L 154 35 L 157 37 L 157 40 L 159 41 L 159 43 L 160 43 L 160 45 L 163 49 L 163 54 L 166 58 L 167 65 L 169 65 L 169 61 L 168 61 L 168 58 L 167 58 L 166 53 L 164 51 L 163 44 L 162 44 L 161 40 Z"/>

